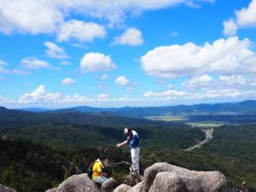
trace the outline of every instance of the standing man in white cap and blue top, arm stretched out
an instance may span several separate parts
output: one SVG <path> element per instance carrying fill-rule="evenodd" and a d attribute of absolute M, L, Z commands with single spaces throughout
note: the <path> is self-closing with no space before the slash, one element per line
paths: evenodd
<path fill-rule="evenodd" d="M 116 147 L 120 148 L 123 147 L 126 143 L 129 143 L 131 148 L 131 162 L 132 162 L 132 169 L 137 173 L 137 176 L 140 175 L 140 147 L 139 147 L 139 137 L 136 131 L 131 129 L 125 128 L 124 132 L 127 139 L 123 143 L 118 143 Z"/>

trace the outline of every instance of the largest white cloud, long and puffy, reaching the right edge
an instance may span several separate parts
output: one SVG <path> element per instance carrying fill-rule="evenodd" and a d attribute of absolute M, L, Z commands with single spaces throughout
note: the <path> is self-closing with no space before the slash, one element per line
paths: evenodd
<path fill-rule="evenodd" d="M 256 53 L 245 38 L 220 38 L 212 44 L 160 46 L 149 50 L 140 59 L 143 70 L 161 78 L 218 74 L 255 74 Z"/>

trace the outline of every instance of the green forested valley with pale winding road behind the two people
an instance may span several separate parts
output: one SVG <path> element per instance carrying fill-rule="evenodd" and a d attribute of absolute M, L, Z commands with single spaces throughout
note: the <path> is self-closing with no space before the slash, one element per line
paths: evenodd
<path fill-rule="evenodd" d="M 164 161 L 195 171 L 217 170 L 230 185 L 245 181 L 249 191 L 256 191 L 253 113 L 165 113 L 148 118 L 108 111 L 0 108 L 0 183 L 21 192 L 44 192 L 86 172 L 100 154 L 107 154 L 110 164 L 129 161 L 128 148 L 114 147 L 125 139 L 128 126 L 141 139 L 142 172 Z M 119 166 L 106 172 L 122 180 L 128 170 Z"/>

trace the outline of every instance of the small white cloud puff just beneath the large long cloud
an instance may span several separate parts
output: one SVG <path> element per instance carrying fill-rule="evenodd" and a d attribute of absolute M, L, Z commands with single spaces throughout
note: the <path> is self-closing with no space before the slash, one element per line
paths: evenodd
<path fill-rule="evenodd" d="M 213 81 L 212 77 L 204 74 L 197 78 L 192 78 L 183 83 L 183 86 L 188 88 L 196 88 L 201 86 L 208 86 Z"/>

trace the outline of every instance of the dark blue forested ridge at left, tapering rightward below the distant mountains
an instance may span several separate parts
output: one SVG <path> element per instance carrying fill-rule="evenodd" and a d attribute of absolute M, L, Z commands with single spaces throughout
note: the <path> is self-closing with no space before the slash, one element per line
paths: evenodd
<path fill-rule="evenodd" d="M 70 123 L 124 127 L 135 125 L 186 126 L 175 122 L 152 121 L 149 119 L 122 117 L 112 113 L 44 112 L 33 113 L 22 110 L 0 108 L 0 127 L 23 127 L 42 123 Z"/>

